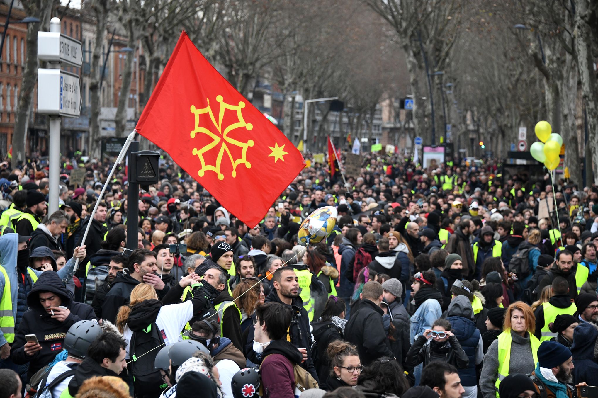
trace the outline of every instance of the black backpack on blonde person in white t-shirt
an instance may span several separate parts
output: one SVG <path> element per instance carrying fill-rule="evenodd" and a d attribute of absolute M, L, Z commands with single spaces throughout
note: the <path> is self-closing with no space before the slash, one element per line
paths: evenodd
<path fill-rule="evenodd" d="M 155 394 L 155 391 L 166 388 L 161 381 L 160 371 L 154 368 L 155 357 L 160 351 L 156 348 L 163 345 L 164 338 L 155 321 L 146 329 L 133 332 L 129 344 L 129 356 L 133 360 L 130 368 L 136 395 Z"/>

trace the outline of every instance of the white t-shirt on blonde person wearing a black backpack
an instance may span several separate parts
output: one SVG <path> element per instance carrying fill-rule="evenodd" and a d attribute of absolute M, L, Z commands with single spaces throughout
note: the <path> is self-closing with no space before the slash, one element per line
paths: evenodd
<path fill-rule="evenodd" d="M 164 343 L 172 345 L 177 341 L 182 341 L 181 332 L 191 318 L 193 318 L 193 302 L 191 300 L 180 304 L 164 305 L 160 308 L 155 324 L 160 329 Z M 124 327 L 123 336 L 127 341 L 127 359 L 129 359 L 129 347 L 133 332 L 128 325 Z"/>

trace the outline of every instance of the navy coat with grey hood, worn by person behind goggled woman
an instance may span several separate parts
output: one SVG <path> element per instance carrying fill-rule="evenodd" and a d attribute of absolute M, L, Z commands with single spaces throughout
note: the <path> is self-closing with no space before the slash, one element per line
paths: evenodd
<path fill-rule="evenodd" d="M 476 385 L 475 365 L 480 363 L 484 357 L 484 344 L 480 330 L 476 329 L 473 322 L 474 310 L 471 308 L 471 302 L 466 296 L 455 297 L 449 305 L 448 315 L 447 321 L 451 324 L 451 331 L 459 340 L 459 344 L 469 359 L 466 369 L 459 370 L 461 384 Z"/>

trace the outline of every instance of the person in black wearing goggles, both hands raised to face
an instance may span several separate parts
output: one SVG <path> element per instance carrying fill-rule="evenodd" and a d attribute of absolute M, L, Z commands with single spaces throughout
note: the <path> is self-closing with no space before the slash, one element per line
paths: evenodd
<path fill-rule="evenodd" d="M 469 359 L 459 344 L 456 336 L 451 332 L 451 324 L 443 318 L 437 319 L 432 329 L 426 329 L 411 345 L 405 358 L 405 365 L 417 366 L 423 363 L 425 367 L 432 361 L 442 361 L 465 369 Z"/>

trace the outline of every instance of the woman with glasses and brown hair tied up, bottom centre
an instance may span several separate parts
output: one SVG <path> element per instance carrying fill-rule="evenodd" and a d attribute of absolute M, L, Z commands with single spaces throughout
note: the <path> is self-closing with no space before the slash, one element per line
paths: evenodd
<path fill-rule="evenodd" d="M 334 391 L 338 387 L 355 387 L 364 366 L 361 365 L 357 347 L 343 340 L 336 340 L 328 345 L 326 355 L 330 359 L 330 375 L 321 382 L 325 391 Z"/>

